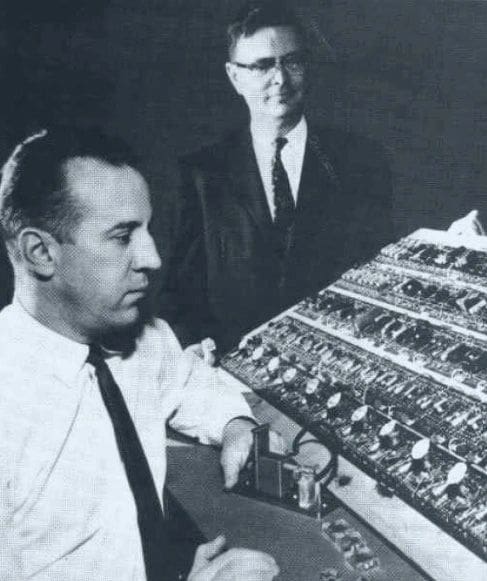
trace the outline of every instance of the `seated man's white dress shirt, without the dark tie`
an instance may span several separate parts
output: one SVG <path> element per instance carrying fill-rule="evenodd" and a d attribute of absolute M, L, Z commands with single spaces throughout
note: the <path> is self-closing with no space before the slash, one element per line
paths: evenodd
<path fill-rule="evenodd" d="M 145 581 L 133 495 L 87 355 L 15 301 L 0 312 L 2 581 Z M 159 319 L 107 363 L 161 493 L 173 412 L 171 425 L 205 443 L 250 413 Z"/>

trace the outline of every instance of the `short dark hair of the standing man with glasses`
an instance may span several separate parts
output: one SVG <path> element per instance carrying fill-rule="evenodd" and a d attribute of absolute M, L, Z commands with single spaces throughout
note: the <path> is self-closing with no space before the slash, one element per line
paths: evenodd
<path fill-rule="evenodd" d="M 296 31 L 303 45 L 306 45 L 306 34 L 297 15 L 281 1 L 267 0 L 247 2 L 238 11 L 227 28 L 228 54 L 233 57 L 240 38 L 252 36 L 261 28 L 289 26 Z"/>

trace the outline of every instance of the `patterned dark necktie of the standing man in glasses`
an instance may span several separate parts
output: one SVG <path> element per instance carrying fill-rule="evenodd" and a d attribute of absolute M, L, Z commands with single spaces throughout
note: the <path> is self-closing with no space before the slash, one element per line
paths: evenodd
<path fill-rule="evenodd" d="M 281 151 L 286 145 L 285 137 L 276 139 L 276 151 L 272 160 L 272 188 L 274 191 L 274 230 L 276 247 L 280 258 L 284 258 L 289 243 L 290 228 L 294 222 L 294 199 L 287 172 L 282 164 Z"/>

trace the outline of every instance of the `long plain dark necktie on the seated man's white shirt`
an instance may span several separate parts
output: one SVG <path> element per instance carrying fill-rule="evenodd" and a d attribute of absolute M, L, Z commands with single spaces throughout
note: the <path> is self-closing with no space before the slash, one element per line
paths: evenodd
<path fill-rule="evenodd" d="M 90 346 L 87 361 L 95 368 L 100 392 L 112 420 L 120 457 L 134 496 L 147 581 L 172 581 L 182 578 L 171 561 L 170 538 L 161 501 L 120 388 L 100 347 Z"/>

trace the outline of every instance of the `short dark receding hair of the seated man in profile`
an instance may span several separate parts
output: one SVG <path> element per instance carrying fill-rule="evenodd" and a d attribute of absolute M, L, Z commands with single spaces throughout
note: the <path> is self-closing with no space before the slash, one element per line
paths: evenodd
<path fill-rule="evenodd" d="M 121 139 L 96 128 L 53 127 L 22 141 L 2 169 L 0 230 L 5 241 L 26 227 L 52 234 L 59 242 L 81 220 L 81 209 L 66 184 L 66 162 L 92 158 L 110 165 L 138 167 L 138 159 Z"/>

